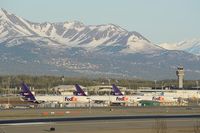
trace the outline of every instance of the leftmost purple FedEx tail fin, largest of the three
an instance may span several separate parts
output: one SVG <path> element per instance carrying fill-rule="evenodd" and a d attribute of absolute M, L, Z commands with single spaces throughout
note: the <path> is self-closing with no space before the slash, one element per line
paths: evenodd
<path fill-rule="evenodd" d="M 20 94 L 24 97 L 25 100 L 29 102 L 36 102 L 35 96 L 25 83 L 22 83 L 22 91 Z"/>

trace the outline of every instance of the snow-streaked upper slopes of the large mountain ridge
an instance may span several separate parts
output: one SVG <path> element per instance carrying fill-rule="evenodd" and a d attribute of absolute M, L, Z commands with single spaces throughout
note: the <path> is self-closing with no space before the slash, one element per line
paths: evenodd
<path fill-rule="evenodd" d="M 99 50 L 108 46 L 121 46 L 123 47 L 121 51 L 125 53 L 162 50 L 152 45 L 138 32 L 129 32 L 114 24 L 84 25 L 78 21 L 33 23 L 4 9 L 0 10 L 0 38 L 0 42 L 8 46 L 19 45 L 26 41 L 38 44 L 40 40 L 42 44 L 61 48 L 81 47 L 87 50 Z"/>

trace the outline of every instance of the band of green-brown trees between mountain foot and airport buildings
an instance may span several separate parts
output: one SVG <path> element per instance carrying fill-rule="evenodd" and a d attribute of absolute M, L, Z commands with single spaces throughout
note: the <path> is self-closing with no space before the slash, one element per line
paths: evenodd
<path fill-rule="evenodd" d="M 58 85 L 74 85 L 82 86 L 93 85 L 111 85 L 116 84 L 124 86 L 128 89 L 139 89 L 140 87 L 162 88 L 164 86 L 178 86 L 177 80 L 141 80 L 141 79 L 114 79 L 114 78 L 88 78 L 88 77 L 64 77 L 64 76 L 32 76 L 32 75 L 7 75 L 0 76 L 0 93 L 3 89 L 16 88 L 19 89 L 21 83 L 34 87 L 36 90 L 52 88 Z M 199 81 L 185 80 L 185 87 L 195 87 Z M 200 82 L 199 82 L 200 83 Z"/>

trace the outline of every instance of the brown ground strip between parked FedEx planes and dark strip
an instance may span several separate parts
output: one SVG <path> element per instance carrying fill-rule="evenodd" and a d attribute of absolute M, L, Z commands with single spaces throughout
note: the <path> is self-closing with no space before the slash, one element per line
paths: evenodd
<path fill-rule="evenodd" d="M 89 108 L 10 109 L 0 110 L 0 119 L 143 114 L 200 114 L 200 107 L 107 107 L 91 110 Z"/>

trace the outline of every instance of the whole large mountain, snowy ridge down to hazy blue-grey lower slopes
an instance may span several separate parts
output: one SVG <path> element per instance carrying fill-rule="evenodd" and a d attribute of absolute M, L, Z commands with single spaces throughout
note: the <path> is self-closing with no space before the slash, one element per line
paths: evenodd
<path fill-rule="evenodd" d="M 0 10 L 0 74 L 175 79 L 183 65 L 187 79 L 200 78 L 198 55 L 161 46 L 114 24 L 35 23 Z"/>

